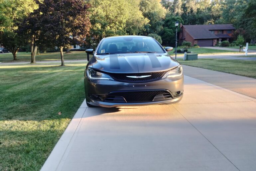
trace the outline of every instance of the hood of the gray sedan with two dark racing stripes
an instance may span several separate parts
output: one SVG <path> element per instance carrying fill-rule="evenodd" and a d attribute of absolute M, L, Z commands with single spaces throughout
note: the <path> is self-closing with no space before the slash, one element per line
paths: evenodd
<path fill-rule="evenodd" d="M 167 53 L 123 53 L 94 55 L 94 69 L 112 73 L 156 72 L 175 68 L 179 63 Z"/>

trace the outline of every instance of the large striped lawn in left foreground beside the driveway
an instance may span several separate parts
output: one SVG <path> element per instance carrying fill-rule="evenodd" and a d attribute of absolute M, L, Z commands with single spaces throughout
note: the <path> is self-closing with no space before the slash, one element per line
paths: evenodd
<path fill-rule="evenodd" d="M 85 98 L 85 65 L 0 65 L 0 170 L 41 169 Z"/>

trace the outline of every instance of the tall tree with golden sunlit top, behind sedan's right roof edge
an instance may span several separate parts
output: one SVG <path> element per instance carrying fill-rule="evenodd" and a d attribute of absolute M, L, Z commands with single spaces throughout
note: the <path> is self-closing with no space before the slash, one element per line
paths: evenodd
<path fill-rule="evenodd" d="M 145 18 L 149 19 L 149 24 L 145 26 L 145 35 L 149 33 L 158 34 L 163 29 L 163 19 L 166 9 L 161 5 L 160 0 L 141 0 L 140 11 Z"/>

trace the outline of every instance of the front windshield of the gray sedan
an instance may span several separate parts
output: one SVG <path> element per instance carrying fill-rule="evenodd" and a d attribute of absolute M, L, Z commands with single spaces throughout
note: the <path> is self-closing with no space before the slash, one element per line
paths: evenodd
<path fill-rule="evenodd" d="M 162 47 L 150 37 L 119 37 L 102 40 L 96 54 L 140 52 L 165 53 Z"/>

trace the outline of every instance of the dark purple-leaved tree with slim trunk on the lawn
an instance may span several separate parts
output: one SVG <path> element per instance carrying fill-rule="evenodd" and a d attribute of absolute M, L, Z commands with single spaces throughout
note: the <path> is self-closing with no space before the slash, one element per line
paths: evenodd
<path fill-rule="evenodd" d="M 89 35 L 89 5 L 83 0 L 37 1 L 39 8 L 34 11 L 41 25 L 39 43 L 61 51 L 61 66 L 64 66 L 63 48 L 72 43 L 85 43 Z"/>

